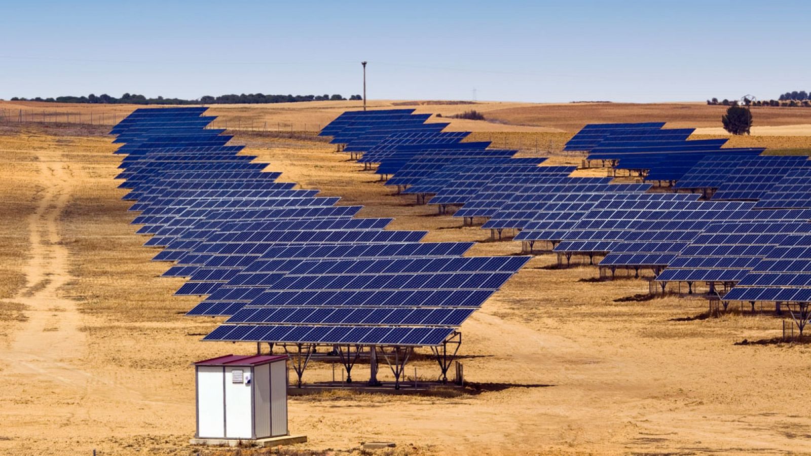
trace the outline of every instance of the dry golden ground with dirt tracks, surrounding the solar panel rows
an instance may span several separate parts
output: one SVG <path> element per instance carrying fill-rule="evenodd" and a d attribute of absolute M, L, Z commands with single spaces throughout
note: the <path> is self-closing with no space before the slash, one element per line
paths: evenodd
<path fill-rule="evenodd" d="M 488 128 L 515 128 L 547 140 L 538 148 L 543 154 L 581 123 L 621 117 L 603 117 L 603 105 L 575 105 L 576 112 L 561 108 L 547 123 L 510 112 L 541 109 L 534 105 L 491 105 L 483 110 L 492 118 L 535 126 L 484 123 L 474 128 L 479 139 Z M 676 125 L 693 122 L 692 114 L 657 106 L 663 114 L 643 110 L 622 120 L 673 114 Z M 212 114 L 326 123 L 347 107 L 217 106 Z M 470 105 L 418 108 L 453 114 Z M 634 117 L 646 112 L 650 118 Z M 786 122 L 803 123 L 792 117 L 797 113 L 805 110 L 790 110 Z M 699 114 L 694 125 L 712 127 Z M 775 125 L 783 125 L 781 116 Z M 183 316 L 196 299 L 174 297 L 182 281 L 160 277 L 168 264 L 150 262 L 157 251 L 142 247 L 145 238 L 129 224 L 134 215 L 114 179 L 120 157 L 105 131 L 0 126 L 0 454 L 238 454 L 187 445 L 195 431 L 190 364 L 255 346 L 200 342 L 217 320 Z M 520 139 L 526 155 L 535 150 L 533 138 Z M 774 140 L 764 138 L 745 140 Z M 785 138 L 781 147 L 809 147 L 805 138 Z M 363 204 L 362 217 L 395 217 L 390 229 L 429 230 L 431 241 L 479 241 L 471 255 L 520 252 L 519 243 L 489 242 L 486 230 L 393 195 L 324 142 L 249 132 L 234 142 L 247 144 L 246 153 L 268 170 L 282 171 L 281 180 Z M 736 345 L 775 338 L 779 318 L 730 312 L 705 319 L 703 300 L 649 299 L 642 280 L 597 277 L 594 267 L 558 269 L 555 256 L 536 256 L 461 326 L 461 362 L 474 387 L 290 398 L 290 430 L 309 441 L 282 454 L 368 454 L 359 450 L 363 441 L 397 443 L 380 454 L 811 453 L 811 348 Z M 425 379 L 436 375 L 435 365 L 419 359 L 406 373 L 416 368 Z M 305 380 L 331 375 L 330 364 L 313 364 Z M 367 375 L 364 365 L 353 371 L 358 380 Z"/>

